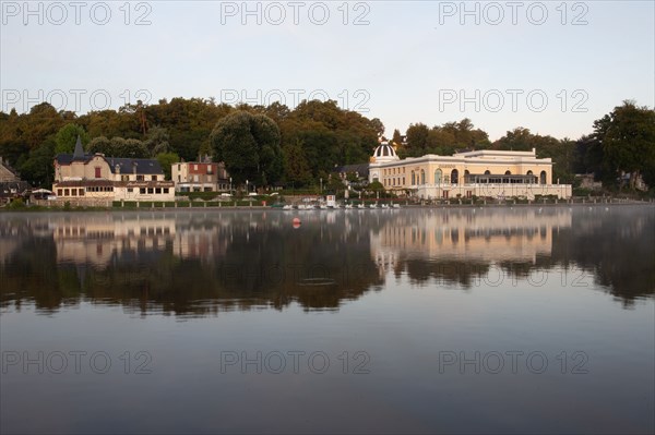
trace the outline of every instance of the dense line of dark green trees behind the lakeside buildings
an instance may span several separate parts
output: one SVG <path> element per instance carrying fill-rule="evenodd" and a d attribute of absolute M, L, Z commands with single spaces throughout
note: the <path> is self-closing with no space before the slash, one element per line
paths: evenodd
<path fill-rule="evenodd" d="M 90 153 L 157 158 L 172 162 L 211 155 L 225 160 L 236 183 L 295 186 L 327 181 L 336 166 L 366 162 L 384 133 L 379 119 L 341 109 L 335 101 L 301 101 L 295 109 L 216 104 L 214 99 L 174 98 L 154 105 L 78 116 L 43 102 L 28 113 L 0 112 L 0 155 L 35 185 L 52 181 L 52 159 L 72 153 L 78 135 Z M 608 186 L 632 185 L 638 176 L 655 185 L 655 111 L 624 101 L 597 120 L 579 140 L 558 140 L 515 128 L 491 142 L 469 119 L 432 128 L 413 123 L 391 141 L 401 157 L 451 155 L 465 149 L 537 149 L 551 157 L 553 180 L 573 182 L 574 173 L 595 173 Z M 628 180 L 628 178 L 626 178 Z"/>

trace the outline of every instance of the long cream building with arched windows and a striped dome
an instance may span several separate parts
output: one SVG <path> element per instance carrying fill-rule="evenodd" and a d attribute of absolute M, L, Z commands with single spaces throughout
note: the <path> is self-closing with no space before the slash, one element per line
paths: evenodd
<path fill-rule="evenodd" d="M 537 158 L 536 150 L 474 150 L 452 156 L 428 154 L 401 159 L 382 143 L 371 157 L 369 182 L 388 191 L 408 192 L 420 198 L 571 197 L 570 184 L 552 183 L 552 161 Z"/>

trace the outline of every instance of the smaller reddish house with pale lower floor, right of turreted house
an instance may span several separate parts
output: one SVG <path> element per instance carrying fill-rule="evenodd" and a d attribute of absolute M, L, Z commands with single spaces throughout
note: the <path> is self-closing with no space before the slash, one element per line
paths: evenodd
<path fill-rule="evenodd" d="M 222 162 L 172 164 L 171 174 L 177 192 L 218 192 L 230 189 L 229 176 Z"/>

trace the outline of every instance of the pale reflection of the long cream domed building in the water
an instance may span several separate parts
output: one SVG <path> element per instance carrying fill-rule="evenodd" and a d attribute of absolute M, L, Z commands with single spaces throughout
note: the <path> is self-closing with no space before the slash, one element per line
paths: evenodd
<path fill-rule="evenodd" d="M 553 232 L 570 228 L 571 215 L 563 208 L 397 215 L 371 231 L 371 255 L 381 273 L 407 259 L 534 264 L 537 256 L 550 255 Z"/>

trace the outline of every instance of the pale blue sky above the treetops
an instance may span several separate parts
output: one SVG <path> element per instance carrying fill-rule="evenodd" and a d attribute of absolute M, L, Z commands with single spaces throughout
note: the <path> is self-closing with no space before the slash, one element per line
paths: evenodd
<path fill-rule="evenodd" d="M 260 3 L 258 25 L 257 15 L 242 16 L 240 1 L 132 2 L 126 25 L 126 2 L 92 1 L 76 25 L 68 1 L 63 9 L 32 2 L 32 15 L 23 1 L 2 1 L 0 110 L 26 111 L 39 95 L 79 113 L 104 108 L 108 96 L 116 109 L 140 89 L 151 102 L 234 102 L 243 94 L 265 104 L 281 95 L 293 107 L 314 92 L 380 118 L 388 135 L 412 122 L 467 117 L 496 140 L 515 126 L 577 138 L 623 99 L 655 106 L 653 1 L 517 2 L 516 24 L 505 1 L 348 2 L 346 25 L 342 1 L 297 3 L 297 24 L 295 7 L 281 1 Z M 462 5 L 473 14 L 461 16 Z M 315 24 L 323 9 L 330 16 Z M 275 25 L 281 10 L 284 22 Z M 504 17 L 493 25 L 499 11 Z M 151 24 L 134 25 L 143 14 Z M 359 15 L 369 24 L 354 25 Z M 464 107 L 461 96 L 469 98 Z"/>

